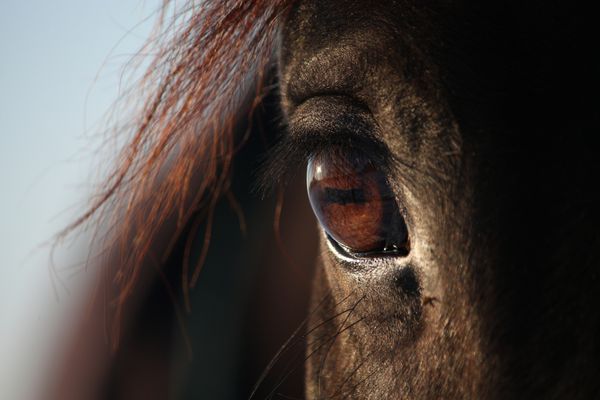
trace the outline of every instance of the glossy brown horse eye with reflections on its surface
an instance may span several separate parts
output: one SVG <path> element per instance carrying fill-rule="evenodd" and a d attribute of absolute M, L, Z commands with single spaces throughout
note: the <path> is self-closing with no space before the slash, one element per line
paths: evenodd
<path fill-rule="evenodd" d="M 327 234 L 358 254 L 406 255 L 406 224 L 385 175 L 359 152 L 330 152 L 308 162 L 310 204 Z"/>

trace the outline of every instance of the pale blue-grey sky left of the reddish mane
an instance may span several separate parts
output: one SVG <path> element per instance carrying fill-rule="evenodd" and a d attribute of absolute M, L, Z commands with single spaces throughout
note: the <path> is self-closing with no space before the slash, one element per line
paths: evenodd
<path fill-rule="evenodd" d="M 34 399 L 73 294 L 48 247 L 90 190 L 101 117 L 162 0 L 4 0 L 0 12 L 0 398 Z M 116 46 L 116 47 L 115 47 Z M 73 279 L 67 285 L 76 285 Z M 64 327 L 62 327 L 64 329 Z"/>

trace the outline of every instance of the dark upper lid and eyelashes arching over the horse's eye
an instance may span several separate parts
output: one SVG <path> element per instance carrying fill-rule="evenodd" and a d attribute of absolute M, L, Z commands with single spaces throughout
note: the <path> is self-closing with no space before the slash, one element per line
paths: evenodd
<path fill-rule="evenodd" d="M 285 133 L 261 160 L 255 180 L 255 190 L 266 196 L 275 188 L 287 184 L 294 174 L 305 173 L 307 160 L 321 152 L 348 153 L 359 149 L 385 173 L 391 173 L 396 163 L 387 146 L 378 138 L 356 132 Z"/>

